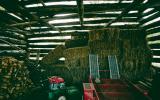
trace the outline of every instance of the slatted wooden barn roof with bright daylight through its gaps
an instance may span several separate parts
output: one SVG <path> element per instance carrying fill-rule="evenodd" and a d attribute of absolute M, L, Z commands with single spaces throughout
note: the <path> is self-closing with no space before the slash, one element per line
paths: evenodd
<path fill-rule="evenodd" d="M 141 27 L 147 21 L 142 17 L 155 9 L 142 12 L 147 8 L 159 10 L 159 6 L 158 0 L 0 0 L 0 28 L 23 35 L 25 39 L 10 36 L 26 40 L 28 48 L 53 48 L 56 45 L 29 43 L 64 42 L 63 38 L 40 37 L 85 35 L 90 30 L 108 27 L 148 29 L 150 26 Z M 6 40 L 14 43 L 13 39 Z"/>

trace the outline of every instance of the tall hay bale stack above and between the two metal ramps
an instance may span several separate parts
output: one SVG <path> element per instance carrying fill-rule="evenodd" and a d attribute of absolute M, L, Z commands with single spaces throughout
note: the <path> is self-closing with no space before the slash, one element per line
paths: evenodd
<path fill-rule="evenodd" d="M 108 55 L 119 56 L 119 33 L 116 28 L 94 30 L 89 33 L 89 48 L 91 54 L 98 54 L 100 70 L 109 70 Z M 109 73 L 100 73 L 102 78 L 108 78 Z"/>

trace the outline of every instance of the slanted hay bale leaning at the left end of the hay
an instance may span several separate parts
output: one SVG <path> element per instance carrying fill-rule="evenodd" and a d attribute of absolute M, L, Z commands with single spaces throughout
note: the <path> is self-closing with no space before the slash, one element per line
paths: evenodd
<path fill-rule="evenodd" d="M 43 57 L 43 59 L 41 60 L 41 63 L 47 64 L 47 65 L 56 64 L 59 58 L 63 57 L 63 51 L 65 49 L 66 48 L 63 45 L 57 46 L 54 50 L 50 51 L 48 55 Z"/>

